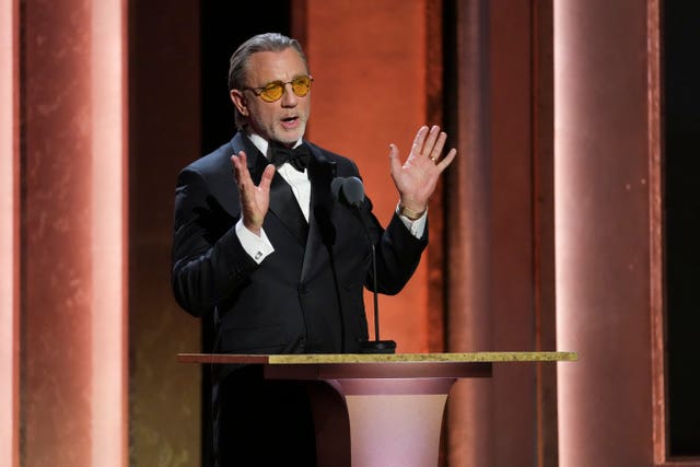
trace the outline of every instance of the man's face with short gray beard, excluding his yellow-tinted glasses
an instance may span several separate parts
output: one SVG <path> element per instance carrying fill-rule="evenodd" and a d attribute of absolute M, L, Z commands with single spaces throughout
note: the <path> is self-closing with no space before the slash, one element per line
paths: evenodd
<path fill-rule="evenodd" d="M 304 61 L 293 48 L 283 51 L 260 51 L 248 59 L 246 87 L 262 87 L 272 81 L 283 83 L 308 74 Z M 231 100 L 238 112 L 248 117 L 250 130 L 267 139 L 290 145 L 306 129 L 311 106 L 311 92 L 299 97 L 285 84 L 279 101 L 265 102 L 250 90 L 231 91 Z"/>

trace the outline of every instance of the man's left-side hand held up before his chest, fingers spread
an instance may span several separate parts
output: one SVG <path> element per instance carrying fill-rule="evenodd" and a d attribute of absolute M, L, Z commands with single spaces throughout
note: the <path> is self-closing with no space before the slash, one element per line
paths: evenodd
<path fill-rule="evenodd" d="M 275 176 L 275 165 L 269 164 L 262 172 L 260 185 L 255 186 L 248 171 L 247 157 L 244 151 L 231 156 L 233 174 L 238 186 L 241 198 L 241 215 L 243 225 L 256 235 L 260 235 L 262 221 L 270 206 L 270 184 Z"/>

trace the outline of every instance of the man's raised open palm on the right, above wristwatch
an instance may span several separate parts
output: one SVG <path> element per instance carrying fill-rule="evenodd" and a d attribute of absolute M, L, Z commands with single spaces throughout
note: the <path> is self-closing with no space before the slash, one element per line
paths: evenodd
<path fill-rule="evenodd" d="M 428 208 L 428 200 L 435 190 L 440 174 L 457 154 L 456 149 L 451 149 L 447 155 L 442 156 L 446 139 L 447 135 L 441 132 L 439 126 L 433 126 L 430 130 L 425 126 L 421 127 L 404 164 L 399 160 L 396 144 L 389 144 L 389 171 L 402 207 L 417 213 L 422 213 Z"/>

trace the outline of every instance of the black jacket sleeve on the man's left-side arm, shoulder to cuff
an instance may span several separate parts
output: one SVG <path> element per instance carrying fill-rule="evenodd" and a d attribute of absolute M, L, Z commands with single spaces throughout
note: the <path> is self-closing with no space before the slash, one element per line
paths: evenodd
<path fill-rule="evenodd" d="M 258 267 L 235 233 L 236 219 L 210 192 L 205 177 L 184 170 L 175 190 L 171 282 L 177 303 L 202 316 L 232 297 Z"/>

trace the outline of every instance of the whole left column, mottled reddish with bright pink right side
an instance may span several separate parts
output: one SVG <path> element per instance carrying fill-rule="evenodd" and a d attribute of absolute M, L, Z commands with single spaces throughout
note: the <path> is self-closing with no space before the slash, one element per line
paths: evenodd
<path fill-rule="evenodd" d="M 24 2 L 23 465 L 126 466 L 122 0 Z"/>

